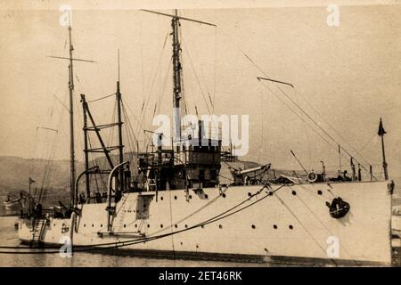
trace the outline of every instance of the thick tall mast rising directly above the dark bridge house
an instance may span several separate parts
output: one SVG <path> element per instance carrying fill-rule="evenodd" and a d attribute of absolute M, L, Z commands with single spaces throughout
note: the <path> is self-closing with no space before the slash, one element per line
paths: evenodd
<path fill-rule="evenodd" d="M 181 47 L 178 35 L 180 26 L 178 12 L 175 11 L 175 17 L 171 20 L 171 28 L 173 28 L 173 84 L 174 84 L 174 126 L 176 127 L 176 139 L 181 141 L 181 114 L 180 114 L 180 99 L 181 99 Z"/>

